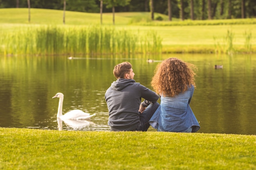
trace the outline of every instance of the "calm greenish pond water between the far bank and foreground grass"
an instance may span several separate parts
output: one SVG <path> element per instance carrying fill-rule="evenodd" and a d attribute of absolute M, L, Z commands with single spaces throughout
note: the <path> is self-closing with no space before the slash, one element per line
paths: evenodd
<path fill-rule="evenodd" d="M 0 57 L 0 127 L 109 131 L 104 94 L 115 81 L 113 67 L 132 64 L 135 81 L 150 87 L 159 62 L 177 57 L 194 64 L 196 89 L 191 108 L 203 133 L 256 134 L 256 55 L 168 54 L 100 56 L 69 60 L 63 56 Z M 223 65 L 215 69 L 214 65 Z M 96 113 L 87 121 L 58 121 L 57 93 L 64 94 L 63 113 Z M 155 129 L 150 128 L 150 131 Z"/>

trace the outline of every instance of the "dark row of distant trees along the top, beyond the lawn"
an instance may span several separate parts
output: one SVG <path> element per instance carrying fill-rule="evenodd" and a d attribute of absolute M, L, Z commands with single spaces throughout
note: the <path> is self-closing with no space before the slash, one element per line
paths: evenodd
<path fill-rule="evenodd" d="M 101 0 L 30 0 L 31 8 L 99 13 Z M 125 2 L 126 1 L 126 2 Z M 0 8 L 27 8 L 29 0 L 0 0 Z M 119 5 L 122 3 L 127 5 Z M 103 0 L 103 13 L 151 11 L 182 20 L 255 18 L 256 0 Z M 152 5 L 153 4 L 153 5 Z M 157 19 L 157 18 L 155 18 Z"/>

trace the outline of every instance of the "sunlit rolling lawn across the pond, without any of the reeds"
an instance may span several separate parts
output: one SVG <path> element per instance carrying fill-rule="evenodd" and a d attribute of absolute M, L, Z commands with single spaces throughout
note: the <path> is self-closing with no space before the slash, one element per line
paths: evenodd
<path fill-rule="evenodd" d="M 0 32 L 15 31 L 23 25 L 58 24 L 63 25 L 63 11 L 49 9 L 31 9 L 31 23 L 28 24 L 28 9 L 0 9 Z M 139 26 L 129 24 L 134 18 L 148 18 L 150 13 L 115 13 L 117 29 L 155 30 L 162 37 L 163 52 L 214 51 L 217 43 L 225 43 L 227 31 L 234 33 L 233 44 L 238 49 L 245 46 L 245 31 L 252 33 L 251 45 L 256 50 L 256 24 L 238 25 L 198 25 L 198 26 Z M 167 16 L 163 15 L 166 20 Z M 99 13 L 81 13 L 66 11 L 66 26 L 100 24 Z M 176 19 L 177 20 L 177 19 Z M 165 21 L 166 22 L 166 21 Z M 182 21 L 180 21 L 182 22 Z M 206 21 L 207 22 L 207 21 Z M 112 13 L 103 13 L 103 25 L 112 25 Z M 214 40 L 216 38 L 216 40 Z"/>

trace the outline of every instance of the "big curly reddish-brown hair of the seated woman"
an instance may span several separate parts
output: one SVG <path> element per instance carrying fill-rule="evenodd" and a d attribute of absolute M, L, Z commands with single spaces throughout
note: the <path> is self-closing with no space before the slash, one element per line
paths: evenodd
<path fill-rule="evenodd" d="M 193 64 L 182 62 L 177 58 L 169 58 L 157 65 L 151 86 L 156 93 L 173 97 L 195 86 Z"/>

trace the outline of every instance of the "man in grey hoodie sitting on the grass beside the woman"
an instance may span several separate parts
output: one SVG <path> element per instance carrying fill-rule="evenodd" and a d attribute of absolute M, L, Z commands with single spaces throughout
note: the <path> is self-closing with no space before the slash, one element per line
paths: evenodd
<path fill-rule="evenodd" d="M 159 107 L 159 96 L 135 82 L 129 62 L 117 64 L 113 70 L 117 81 L 105 93 L 108 105 L 108 125 L 111 131 L 147 131 L 148 121 Z M 141 102 L 141 97 L 144 102 Z"/>

